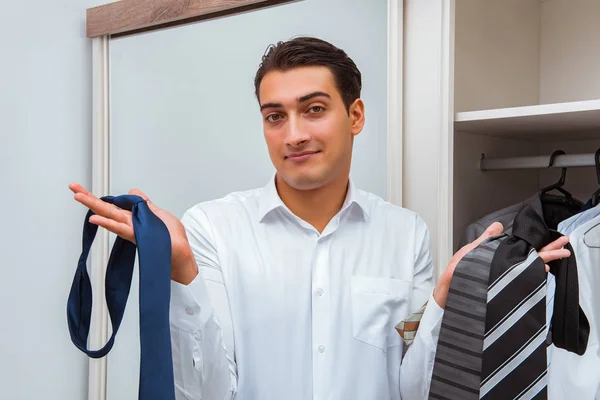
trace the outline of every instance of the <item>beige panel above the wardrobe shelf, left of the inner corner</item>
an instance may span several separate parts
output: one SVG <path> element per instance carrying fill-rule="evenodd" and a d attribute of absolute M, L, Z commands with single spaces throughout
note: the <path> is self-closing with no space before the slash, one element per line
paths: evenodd
<path fill-rule="evenodd" d="M 457 0 L 455 111 L 539 101 L 539 0 Z"/>

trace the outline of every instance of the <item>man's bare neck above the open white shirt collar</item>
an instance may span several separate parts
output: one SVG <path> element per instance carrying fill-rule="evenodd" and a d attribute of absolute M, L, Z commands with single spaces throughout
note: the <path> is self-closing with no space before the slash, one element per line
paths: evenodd
<path fill-rule="evenodd" d="M 329 221 L 342 209 L 348 192 L 348 175 L 340 174 L 328 184 L 312 190 L 298 190 L 276 175 L 277 192 L 294 215 L 322 233 Z"/>

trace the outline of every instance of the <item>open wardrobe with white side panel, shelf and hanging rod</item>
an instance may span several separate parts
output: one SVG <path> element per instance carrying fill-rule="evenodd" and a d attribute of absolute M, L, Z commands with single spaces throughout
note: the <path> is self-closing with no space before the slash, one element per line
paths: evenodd
<path fill-rule="evenodd" d="M 427 222 L 437 272 L 470 223 L 557 182 L 561 166 L 588 201 L 600 188 L 600 1 L 403 11 L 402 205 Z"/>

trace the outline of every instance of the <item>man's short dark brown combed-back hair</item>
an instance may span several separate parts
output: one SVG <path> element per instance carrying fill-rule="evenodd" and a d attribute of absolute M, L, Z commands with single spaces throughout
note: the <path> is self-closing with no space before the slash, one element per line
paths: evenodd
<path fill-rule="evenodd" d="M 350 57 L 333 44 L 313 37 L 297 37 L 287 42 L 270 45 L 254 78 L 254 93 L 260 102 L 259 88 L 270 71 L 282 71 L 310 66 L 329 68 L 344 101 L 346 110 L 360 97 L 361 74 Z"/>

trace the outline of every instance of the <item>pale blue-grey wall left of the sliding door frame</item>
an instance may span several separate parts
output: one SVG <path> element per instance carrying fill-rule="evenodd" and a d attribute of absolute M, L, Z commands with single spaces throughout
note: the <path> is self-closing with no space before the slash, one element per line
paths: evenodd
<path fill-rule="evenodd" d="M 79 400 L 87 357 L 71 343 L 66 300 L 91 180 L 93 1 L 3 3 L 0 24 L 0 398 Z M 101 2 L 96 2 L 101 3 Z"/>

